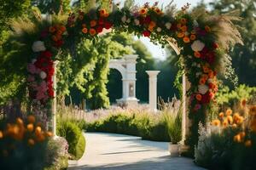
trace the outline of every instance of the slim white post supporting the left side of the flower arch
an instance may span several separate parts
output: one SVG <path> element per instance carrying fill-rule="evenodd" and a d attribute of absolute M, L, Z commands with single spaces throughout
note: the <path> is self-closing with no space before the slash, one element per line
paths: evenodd
<path fill-rule="evenodd" d="M 54 88 L 54 99 L 52 103 L 52 133 L 56 136 L 56 114 L 57 114 L 57 99 L 56 99 L 56 91 L 57 91 L 57 81 L 56 81 L 56 74 L 57 74 L 57 65 L 59 61 L 54 62 L 54 69 L 55 73 L 53 76 L 53 88 Z"/>

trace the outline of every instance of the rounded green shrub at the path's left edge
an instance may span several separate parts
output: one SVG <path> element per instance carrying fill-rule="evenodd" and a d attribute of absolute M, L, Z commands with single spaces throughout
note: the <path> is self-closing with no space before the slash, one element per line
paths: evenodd
<path fill-rule="evenodd" d="M 80 128 L 74 122 L 60 120 L 57 126 L 57 134 L 67 139 L 68 152 L 77 157 L 76 154 L 80 153 L 80 151 L 77 150 L 80 149 L 80 146 L 78 146 L 79 140 L 80 137 L 83 136 Z M 83 143 L 81 140 L 80 142 Z"/>

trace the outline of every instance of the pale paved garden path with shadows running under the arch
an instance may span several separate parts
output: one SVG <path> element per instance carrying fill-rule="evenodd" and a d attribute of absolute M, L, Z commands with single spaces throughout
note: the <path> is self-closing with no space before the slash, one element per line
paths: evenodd
<path fill-rule="evenodd" d="M 193 160 L 172 158 L 166 142 L 152 142 L 113 133 L 86 133 L 86 149 L 69 170 L 202 170 Z"/>

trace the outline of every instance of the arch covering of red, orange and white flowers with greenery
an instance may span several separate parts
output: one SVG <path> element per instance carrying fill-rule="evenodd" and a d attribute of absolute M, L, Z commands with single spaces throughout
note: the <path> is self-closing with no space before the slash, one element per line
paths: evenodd
<path fill-rule="evenodd" d="M 127 31 L 139 37 L 149 37 L 163 46 L 171 43 L 172 48 L 180 52 L 181 69 L 190 82 L 187 89 L 191 134 L 188 142 L 194 148 L 198 123 L 206 122 L 207 110 L 218 91 L 217 77 L 229 66 L 226 52 L 230 44 L 241 38 L 230 21 L 232 18 L 204 11 L 189 13 L 188 8 L 184 6 L 175 15 L 163 13 L 156 5 L 116 8 L 111 13 L 96 8 L 86 14 L 83 11 L 70 13 L 67 20 L 41 21 L 36 31 L 38 39 L 26 44 L 32 47 L 32 55 L 27 57 L 26 82 L 33 113 L 45 120 L 52 114 L 54 61 L 61 61 L 56 57 L 61 49 L 72 48 L 74 39 L 95 40 L 110 29 L 117 33 Z"/>

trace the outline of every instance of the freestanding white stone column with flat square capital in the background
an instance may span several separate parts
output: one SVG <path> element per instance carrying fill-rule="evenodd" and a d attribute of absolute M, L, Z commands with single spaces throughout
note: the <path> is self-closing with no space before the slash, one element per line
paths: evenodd
<path fill-rule="evenodd" d="M 157 111 L 157 75 L 160 71 L 146 71 L 148 73 L 149 82 L 149 108 Z"/>

